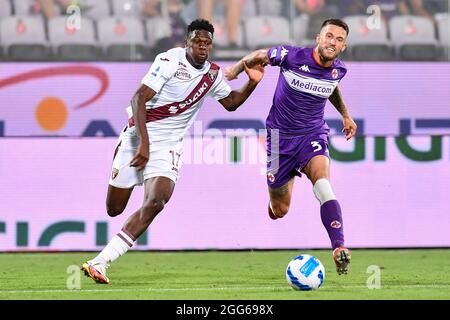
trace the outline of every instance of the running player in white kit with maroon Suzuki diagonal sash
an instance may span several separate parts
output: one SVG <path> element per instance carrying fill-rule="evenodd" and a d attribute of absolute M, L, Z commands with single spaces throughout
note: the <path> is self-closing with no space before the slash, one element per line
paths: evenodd
<path fill-rule="evenodd" d="M 92 260 L 82 265 L 97 283 L 109 283 L 106 269 L 127 252 L 169 201 L 182 163 L 183 137 L 207 96 L 236 110 L 262 79 L 264 69 L 246 68 L 249 81 L 231 90 L 222 70 L 209 62 L 214 27 L 195 20 L 187 28 L 185 48 L 159 54 L 133 96 L 128 125 L 120 135 L 109 179 L 106 206 L 121 214 L 136 185 L 144 184 L 142 207 Z"/>

